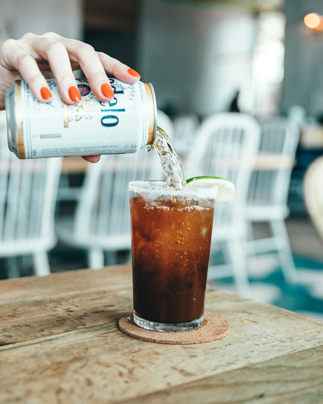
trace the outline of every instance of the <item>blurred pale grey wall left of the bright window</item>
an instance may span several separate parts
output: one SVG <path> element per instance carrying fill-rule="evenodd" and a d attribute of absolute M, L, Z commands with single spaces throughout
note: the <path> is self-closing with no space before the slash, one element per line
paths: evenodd
<path fill-rule="evenodd" d="M 250 86 L 255 23 L 221 8 L 151 0 L 139 28 L 138 68 L 155 88 L 158 106 L 208 116 L 226 109 Z"/>

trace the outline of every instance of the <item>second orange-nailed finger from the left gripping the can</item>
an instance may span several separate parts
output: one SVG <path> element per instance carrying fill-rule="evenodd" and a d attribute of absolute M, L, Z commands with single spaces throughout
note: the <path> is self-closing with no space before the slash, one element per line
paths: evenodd
<path fill-rule="evenodd" d="M 69 55 L 62 42 L 54 38 L 35 36 L 31 47 L 44 59 L 48 60 L 50 69 L 57 81 L 59 95 L 68 104 L 81 101 L 80 91 L 71 68 Z"/>

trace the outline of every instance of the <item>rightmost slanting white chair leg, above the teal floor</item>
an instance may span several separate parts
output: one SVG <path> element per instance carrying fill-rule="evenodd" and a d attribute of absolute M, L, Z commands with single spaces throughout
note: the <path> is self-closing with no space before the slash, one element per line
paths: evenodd
<path fill-rule="evenodd" d="M 298 282 L 298 274 L 295 267 L 292 248 L 289 244 L 289 238 L 284 220 L 272 220 L 270 222 L 273 234 L 275 237 L 284 239 L 284 246 L 277 245 L 277 252 L 281 269 L 285 278 L 285 282 L 288 284 L 294 284 Z"/>

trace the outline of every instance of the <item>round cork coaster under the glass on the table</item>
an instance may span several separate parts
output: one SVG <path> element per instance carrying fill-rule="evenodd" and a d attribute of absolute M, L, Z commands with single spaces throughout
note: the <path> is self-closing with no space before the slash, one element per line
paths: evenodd
<path fill-rule="evenodd" d="M 224 318 L 206 311 L 201 326 L 190 331 L 161 332 L 151 331 L 137 326 L 133 320 L 133 313 L 120 318 L 119 328 L 130 337 L 160 344 L 199 344 L 220 339 L 227 335 L 230 324 Z"/>

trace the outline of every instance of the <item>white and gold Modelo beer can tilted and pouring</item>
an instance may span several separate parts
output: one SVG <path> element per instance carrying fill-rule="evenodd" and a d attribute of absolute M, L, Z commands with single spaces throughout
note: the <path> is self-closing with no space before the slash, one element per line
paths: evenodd
<path fill-rule="evenodd" d="M 18 158 L 134 153 L 155 140 L 157 105 L 149 83 L 109 78 L 110 102 L 99 101 L 86 78 L 77 79 L 81 101 L 65 103 L 56 80 L 47 80 L 52 100 L 38 101 L 25 80 L 6 91 L 8 145 Z"/>

